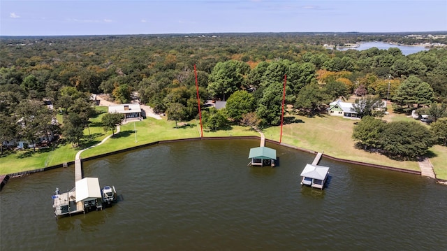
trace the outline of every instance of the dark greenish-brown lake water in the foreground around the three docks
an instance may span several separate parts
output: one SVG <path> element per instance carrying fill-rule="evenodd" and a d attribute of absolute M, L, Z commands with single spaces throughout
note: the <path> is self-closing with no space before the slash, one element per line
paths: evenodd
<path fill-rule="evenodd" d="M 279 145 L 279 166 L 249 167 L 254 140 L 153 145 L 84 164 L 114 185 L 112 208 L 54 219 L 73 166 L 11 179 L 0 250 L 447 250 L 447 186 L 322 159 L 323 191 L 300 185 L 314 155 Z"/>

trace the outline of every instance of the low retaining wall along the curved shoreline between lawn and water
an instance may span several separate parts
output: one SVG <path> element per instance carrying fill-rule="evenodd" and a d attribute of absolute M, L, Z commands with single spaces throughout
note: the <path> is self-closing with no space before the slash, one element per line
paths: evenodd
<path fill-rule="evenodd" d="M 205 140 L 205 141 L 210 141 L 210 140 L 228 140 L 228 139 L 230 139 L 230 140 L 235 140 L 235 139 L 257 139 L 257 140 L 259 140 L 259 139 L 261 139 L 261 137 L 260 136 L 219 136 L 219 137 L 203 137 L 203 138 L 200 138 L 200 137 L 197 137 L 197 138 L 179 138 L 179 139 L 165 140 L 165 141 L 154 141 L 152 143 L 146 143 L 146 144 L 143 144 L 143 145 L 136 145 L 136 146 L 131 147 L 131 148 L 124 148 L 124 149 L 120 149 L 120 150 L 115 150 L 115 151 L 107 152 L 107 153 L 104 153 L 104 154 L 101 154 L 101 155 L 95 155 L 95 156 L 91 156 L 91 157 L 87 157 L 87 158 L 82 158 L 81 157 L 80 159 L 81 159 L 82 162 L 85 162 L 85 161 L 89 161 L 89 160 L 93 160 L 93 159 L 99 159 L 101 157 L 107 157 L 107 156 L 110 156 L 110 155 L 115 155 L 115 154 L 121 153 L 121 152 L 129 152 L 131 150 L 137 150 L 137 149 L 145 148 L 145 147 L 148 147 L 148 146 L 151 146 L 151 145 L 159 145 L 159 144 L 164 144 L 164 143 L 175 143 L 175 142 L 181 142 L 181 141 L 202 141 L 202 140 Z M 289 144 L 286 144 L 286 143 L 279 143 L 278 141 L 273 141 L 273 140 L 270 140 L 270 139 L 267 139 L 267 138 L 265 139 L 265 141 L 267 141 L 268 143 L 273 143 L 275 145 L 281 145 L 281 146 L 284 146 L 286 148 L 292 148 L 292 149 L 295 149 L 295 150 L 299 150 L 301 152 L 307 152 L 307 153 L 314 154 L 314 155 L 316 155 L 316 153 L 317 153 L 314 150 L 300 148 L 298 146 L 289 145 Z M 381 169 L 386 169 L 386 170 L 390 170 L 390 171 L 398 171 L 398 172 L 401 172 L 401 173 L 411 173 L 411 174 L 415 174 L 415 175 L 421 175 L 421 171 L 396 168 L 396 167 L 393 167 L 393 166 L 383 166 L 383 165 L 378 165 L 378 164 L 370 164 L 370 163 L 366 163 L 366 162 L 356 162 L 356 161 L 351 161 L 349 159 L 339 159 L 337 157 L 332 157 L 330 155 L 325 155 L 325 154 L 323 154 L 323 157 L 328 158 L 328 159 L 332 159 L 332 160 L 334 160 L 336 162 L 342 162 L 342 163 L 346 163 L 346 164 L 356 164 L 358 166 L 368 166 L 368 167 L 372 167 L 372 168 L 381 168 Z M 71 162 L 57 164 L 57 165 L 54 165 L 54 166 L 48 166 L 48 167 L 45 167 L 45 168 L 37 168 L 37 169 L 34 169 L 34 170 L 30 170 L 30 171 L 22 171 L 22 172 L 18 172 L 18 173 L 9 173 L 9 174 L 6 174 L 4 176 L 5 176 L 6 180 L 8 180 L 10 178 L 20 178 L 20 177 L 22 177 L 24 175 L 30 175 L 31 173 L 40 173 L 40 172 L 49 171 L 49 170 L 52 170 L 52 169 L 55 169 L 55 168 L 68 167 L 70 165 L 73 165 L 74 163 L 75 163 L 75 160 L 73 159 L 73 161 L 71 161 Z M 439 179 L 439 178 L 434 178 L 434 180 L 437 183 L 441 184 L 441 185 L 447 185 L 447 180 L 442 180 L 442 179 Z M 1 186 L 0 190 L 3 188 L 4 185 L 6 185 L 6 183 L 4 183 Z"/>

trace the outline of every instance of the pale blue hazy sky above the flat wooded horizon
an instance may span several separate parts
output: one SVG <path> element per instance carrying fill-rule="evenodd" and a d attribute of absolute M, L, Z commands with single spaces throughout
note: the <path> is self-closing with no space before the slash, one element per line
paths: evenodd
<path fill-rule="evenodd" d="M 0 0 L 0 36 L 447 31 L 447 0 Z"/>

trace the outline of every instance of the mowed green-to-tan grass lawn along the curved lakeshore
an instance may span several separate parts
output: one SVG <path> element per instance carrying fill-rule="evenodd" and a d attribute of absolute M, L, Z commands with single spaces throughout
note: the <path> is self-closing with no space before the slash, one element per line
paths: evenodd
<path fill-rule="evenodd" d="M 111 134 L 111 131 L 103 131 L 100 123 L 101 117 L 107 111 L 107 107 L 97 107 L 97 109 L 101 113 L 92 118 L 89 129 L 85 129 L 85 135 L 89 139 L 85 141 L 84 147 L 95 145 Z M 411 117 L 396 114 L 392 114 L 392 116 L 385 117 L 384 119 L 388 121 L 413 120 Z M 332 157 L 342 159 L 420 170 L 417 162 L 398 162 L 393 159 L 388 159 L 388 157 L 384 157 L 383 155 L 354 148 L 354 141 L 351 138 L 351 134 L 354 124 L 358 120 L 349 120 L 328 115 L 316 117 L 293 115 L 285 117 L 284 121 L 286 123 L 283 128 L 283 143 L 324 152 Z M 279 141 L 280 127 L 269 127 L 263 129 L 263 132 L 265 138 Z M 259 136 L 259 134 L 247 127 L 233 126 L 229 130 L 204 130 L 204 136 Z M 175 122 L 166 120 L 166 117 L 163 117 L 162 120 L 155 120 L 148 117 L 142 121 L 123 124 L 119 134 L 105 141 L 102 145 L 85 150 L 85 152 L 82 152 L 81 157 L 92 157 L 155 141 L 196 137 L 200 137 L 200 127 L 196 120 L 179 122 L 178 128 L 176 128 Z M 0 174 L 27 171 L 62 164 L 64 162 L 72 162 L 78 150 L 80 149 L 73 148 L 71 143 L 66 143 L 57 145 L 54 150 L 38 150 L 37 152 L 24 150 L 10 153 L 0 158 Z M 447 148 L 437 145 L 430 150 L 434 156 L 431 158 L 431 161 L 437 177 L 447 179 Z"/>

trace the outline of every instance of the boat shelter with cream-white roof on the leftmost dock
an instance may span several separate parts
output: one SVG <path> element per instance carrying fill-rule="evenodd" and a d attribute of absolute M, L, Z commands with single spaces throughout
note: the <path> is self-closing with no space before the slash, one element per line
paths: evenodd
<path fill-rule="evenodd" d="M 84 208 L 99 208 L 101 206 L 101 188 L 98 178 L 83 178 L 75 183 L 76 203 L 82 201 Z M 99 199 L 99 200 L 98 200 Z"/>

